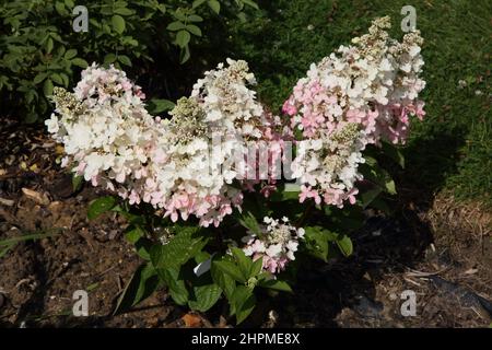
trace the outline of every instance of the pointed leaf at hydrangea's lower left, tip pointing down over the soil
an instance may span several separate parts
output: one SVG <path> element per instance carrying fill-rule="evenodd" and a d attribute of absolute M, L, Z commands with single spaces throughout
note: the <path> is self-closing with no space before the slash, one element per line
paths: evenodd
<path fill-rule="evenodd" d="M 114 315 L 128 311 L 149 298 L 159 285 L 156 271 L 150 264 L 139 266 L 116 304 Z"/>

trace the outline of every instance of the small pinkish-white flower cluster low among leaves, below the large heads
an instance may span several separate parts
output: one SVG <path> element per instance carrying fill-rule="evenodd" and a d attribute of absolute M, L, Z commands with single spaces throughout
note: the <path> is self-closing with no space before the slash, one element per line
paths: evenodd
<path fill-rule="evenodd" d="M 283 271 L 289 261 L 295 260 L 298 240 L 304 237 L 305 232 L 291 225 L 285 217 L 282 220 L 265 217 L 263 222 L 260 235 L 249 232 L 243 237 L 246 244 L 243 250 L 253 260 L 262 258 L 263 269 L 277 273 Z"/>

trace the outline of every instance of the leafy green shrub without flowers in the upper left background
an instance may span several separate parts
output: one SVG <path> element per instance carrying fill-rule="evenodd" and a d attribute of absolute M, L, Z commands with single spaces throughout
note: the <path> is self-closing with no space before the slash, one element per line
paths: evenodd
<path fill-rule="evenodd" d="M 251 0 L 90 0 L 89 31 L 72 28 L 73 0 L 15 0 L 0 8 L 0 98 L 3 116 L 26 122 L 50 110 L 54 85 L 69 88 L 74 73 L 97 61 L 131 70 L 154 62 L 153 55 L 190 58 L 190 45 L 204 39 L 208 22 L 221 16 L 245 19 Z M 177 49 L 176 49 L 177 48 Z M 160 113 L 171 104 L 152 104 Z"/>

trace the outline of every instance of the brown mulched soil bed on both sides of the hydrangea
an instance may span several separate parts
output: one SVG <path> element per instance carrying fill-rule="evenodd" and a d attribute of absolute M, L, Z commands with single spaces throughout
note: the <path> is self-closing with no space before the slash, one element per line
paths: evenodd
<path fill-rule="evenodd" d="M 56 234 L 21 242 L 1 258 L 2 326 L 233 324 L 225 302 L 207 315 L 188 314 L 165 290 L 131 312 L 113 316 L 118 294 L 139 265 L 121 234 L 125 221 L 116 214 L 87 221 L 87 203 L 101 194 L 89 184 L 80 191 L 71 190 L 71 176 L 56 165 L 56 145 L 44 131 L 8 121 L 0 135 L 7 140 L 0 165 L 0 240 L 27 232 Z M 14 159 L 9 165 L 10 154 Z M 348 261 L 314 265 L 303 273 L 293 295 L 259 304 L 245 326 L 488 326 L 492 312 L 490 217 L 444 195 L 429 205 L 415 201 L 419 196 L 411 192 L 401 196 L 407 198 L 398 203 L 395 218 L 366 212 L 364 229 L 352 236 L 354 254 Z M 54 231 L 57 228 L 62 230 Z M 89 317 L 71 316 L 72 294 L 79 289 L 89 291 Z M 415 317 L 400 313 L 403 290 L 417 294 Z"/>

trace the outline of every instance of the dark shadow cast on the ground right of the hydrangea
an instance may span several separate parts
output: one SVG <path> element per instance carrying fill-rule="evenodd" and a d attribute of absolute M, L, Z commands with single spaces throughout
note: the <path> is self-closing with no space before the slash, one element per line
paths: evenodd
<path fill-rule="evenodd" d="M 456 172 L 462 143 L 464 133 L 454 132 L 406 148 L 406 155 L 412 155 L 407 156 L 409 171 L 395 166 L 391 172 L 399 189 L 398 201 L 391 202 L 394 214 L 370 215 L 351 235 L 354 254 L 349 259 L 304 267 L 295 294 L 281 295 L 276 303 L 285 314 L 280 325 L 338 327 L 335 318 L 345 307 L 362 318 L 378 317 L 383 304 L 376 301 L 376 285 L 383 275 L 403 273 L 425 259 L 433 232 L 420 213 L 432 207 L 446 175 Z"/>

